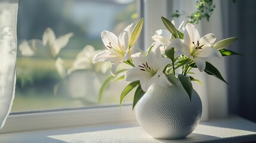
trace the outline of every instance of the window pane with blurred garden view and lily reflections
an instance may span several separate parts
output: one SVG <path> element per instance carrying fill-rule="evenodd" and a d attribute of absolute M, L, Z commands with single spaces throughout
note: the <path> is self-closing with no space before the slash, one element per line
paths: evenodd
<path fill-rule="evenodd" d="M 92 64 L 94 54 L 105 48 L 100 33 L 118 36 L 136 20 L 132 0 L 19 1 L 12 111 L 98 105 L 98 91 L 110 74 L 109 63 Z M 108 85 L 100 105 L 119 104 L 126 84 Z M 131 100 L 128 95 L 125 102 Z"/>

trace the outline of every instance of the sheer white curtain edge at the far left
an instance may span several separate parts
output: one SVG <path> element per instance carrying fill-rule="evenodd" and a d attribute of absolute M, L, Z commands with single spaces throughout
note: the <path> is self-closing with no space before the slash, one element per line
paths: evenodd
<path fill-rule="evenodd" d="M 17 0 L 0 1 L 0 123 L 11 111 L 16 84 Z"/>

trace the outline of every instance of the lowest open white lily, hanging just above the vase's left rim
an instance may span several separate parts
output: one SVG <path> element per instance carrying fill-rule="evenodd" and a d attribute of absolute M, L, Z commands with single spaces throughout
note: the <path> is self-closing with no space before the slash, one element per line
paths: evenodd
<path fill-rule="evenodd" d="M 138 52 L 131 55 L 131 58 L 135 67 L 125 73 L 125 81 L 140 80 L 141 89 L 145 92 L 153 83 L 161 83 L 165 87 L 171 86 L 163 73 L 165 66 L 171 62 L 169 58 L 159 57 L 155 52 L 150 52 L 147 57 L 142 52 Z"/>

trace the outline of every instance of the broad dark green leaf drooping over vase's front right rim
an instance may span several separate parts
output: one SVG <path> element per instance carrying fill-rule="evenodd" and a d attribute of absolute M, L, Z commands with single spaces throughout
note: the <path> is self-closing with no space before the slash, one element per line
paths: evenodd
<path fill-rule="evenodd" d="M 185 89 L 185 91 L 187 92 L 187 94 L 189 94 L 189 99 L 191 101 L 193 86 L 190 80 L 190 76 L 184 76 L 183 74 L 178 74 L 178 79 L 180 80 L 180 83 Z"/>

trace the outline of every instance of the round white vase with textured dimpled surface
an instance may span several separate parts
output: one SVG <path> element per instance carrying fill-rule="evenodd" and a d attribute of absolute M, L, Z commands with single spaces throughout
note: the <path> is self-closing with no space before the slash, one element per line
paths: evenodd
<path fill-rule="evenodd" d="M 193 90 L 192 99 L 179 83 L 172 88 L 153 84 L 135 105 L 141 128 L 153 138 L 180 139 L 195 130 L 202 115 L 202 102 Z"/>

